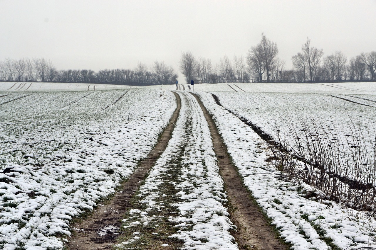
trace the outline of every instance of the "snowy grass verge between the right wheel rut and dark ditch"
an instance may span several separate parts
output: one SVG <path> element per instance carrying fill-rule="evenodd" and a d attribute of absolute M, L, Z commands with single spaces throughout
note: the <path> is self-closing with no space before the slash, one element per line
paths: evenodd
<path fill-rule="evenodd" d="M 342 249 L 376 247 L 376 223 L 364 212 L 342 208 L 331 201 L 306 199 L 309 185 L 281 178 L 281 173 L 265 159 L 270 151 L 245 123 L 214 102 L 210 93 L 198 93 L 213 115 L 229 154 L 244 184 L 270 217 L 292 249 Z"/>

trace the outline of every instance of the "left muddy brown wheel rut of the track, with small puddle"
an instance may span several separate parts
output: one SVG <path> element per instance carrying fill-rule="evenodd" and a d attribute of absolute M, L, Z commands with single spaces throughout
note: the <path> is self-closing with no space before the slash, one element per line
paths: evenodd
<path fill-rule="evenodd" d="M 110 230 L 103 230 L 103 228 L 106 226 L 119 228 L 121 226 L 123 214 L 130 207 L 130 199 L 135 194 L 141 182 L 146 178 L 150 168 L 154 166 L 156 160 L 167 147 L 181 107 L 179 95 L 176 93 L 174 93 L 174 95 L 177 99 L 177 108 L 154 149 L 149 153 L 146 159 L 141 161 L 133 175 L 128 181 L 123 183 L 121 190 L 115 194 L 108 205 L 98 208 L 93 214 L 89 215 L 86 220 L 82 221 L 80 224 L 74 225 L 78 230 L 76 231 L 76 235 L 68 242 L 68 249 L 100 250 L 112 247 L 115 238 L 119 235 L 112 233 Z M 101 231 L 104 231 L 106 235 L 99 235 L 98 232 Z"/>

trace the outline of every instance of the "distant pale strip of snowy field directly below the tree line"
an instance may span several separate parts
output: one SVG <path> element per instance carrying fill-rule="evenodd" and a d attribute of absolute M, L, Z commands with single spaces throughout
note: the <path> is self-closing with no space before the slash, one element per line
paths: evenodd
<path fill-rule="evenodd" d="M 89 84 L 89 83 L 26 83 L 26 82 L 1 82 L 1 91 L 86 91 L 105 89 L 165 89 L 176 90 L 176 85 L 154 86 L 127 86 L 113 84 Z M 190 84 L 179 83 L 180 91 L 193 90 Z M 376 95 L 376 83 L 216 83 L 195 84 L 196 91 L 217 92 L 253 92 L 253 93 L 322 93 L 322 94 L 355 94 Z"/>

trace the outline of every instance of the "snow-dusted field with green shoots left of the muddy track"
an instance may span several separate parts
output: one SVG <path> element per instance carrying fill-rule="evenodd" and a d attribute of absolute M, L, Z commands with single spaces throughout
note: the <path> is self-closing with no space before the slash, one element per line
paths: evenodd
<path fill-rule="evenodd" d="M 61 248 L 69 221 L 115 192 L 176 108 L 165 90 L 0 96 L 0 248 L 9 250 Z"/>

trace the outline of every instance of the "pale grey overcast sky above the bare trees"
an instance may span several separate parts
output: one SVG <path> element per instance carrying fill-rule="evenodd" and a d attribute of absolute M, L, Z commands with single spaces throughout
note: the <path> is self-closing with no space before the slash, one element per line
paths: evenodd
<path fill-rule="evenodd" d="M 246 56 L 261 33 L 291 56 L 307 37 L 325 55 L 376 50 L 376 0 L 0 0 L 0 60 L 44 57 L 57 69 L 133 69 L 182 51 Z M 179 80 L 183 80 L 179 72 Z"/>

